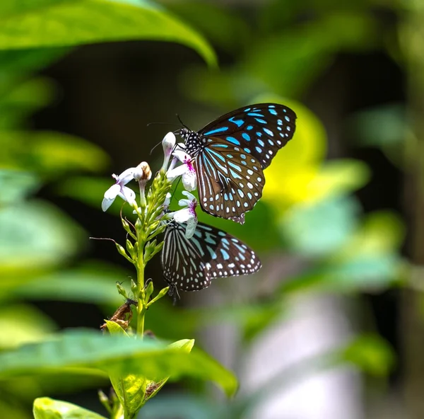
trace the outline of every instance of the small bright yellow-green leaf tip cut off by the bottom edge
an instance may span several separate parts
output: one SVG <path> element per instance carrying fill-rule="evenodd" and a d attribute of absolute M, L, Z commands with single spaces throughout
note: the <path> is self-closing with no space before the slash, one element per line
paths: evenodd
<path fill-rule="evenodd" d="M 106 419 L 73 403 L 49 397 L 36 398 L 33 413 L 35 419 Z"/>

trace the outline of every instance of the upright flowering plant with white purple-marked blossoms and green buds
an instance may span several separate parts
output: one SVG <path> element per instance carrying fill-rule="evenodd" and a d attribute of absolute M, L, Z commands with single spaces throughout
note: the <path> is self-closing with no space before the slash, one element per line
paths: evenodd
<path fill-rule="evenodd" d="M 143 161 L 136 167 L 126 169 L 119 176 L 112 175 L 115 184 L 105 192 L 103 197 L 103 211 L 106 211 L 114 200 L 120 197 L 124 203 L 126 202 L 133 208 L 136 216 L 135 222 L 131 222 L 123 217 L 121 212 L 121 222 L 127 236 L 125 247 L 114 241 L 119 254 L 136 268 L 136 281 L 131 280 L 132 298 L 129 298 L 122 285 L 117 284 L 119 294 L 122 294 L 126 301 L 110 320 L 102 325 L 103 331 L 109 331 L 111 334 L 122 333 L 122 330 L 126 334 L 131 333 L 129 328 L 132 317 L 131 306 L 135 306 L 135 336 L 140 339 L 146 338 L 144 331 L 146 311 L 158 299 L 165 296 L 170 289 L 170 287 L 165 287 L 152 297 L 153 282 L 146 281 L 144 277 L 146 264 L 163 248 L 164 242 L 158 240 L 158 235 L 165 231 L 167 223 L 172 219 L 186 225 L 185 236 L 187 239 L 190 239 L 196 230 L 197 200 L 189 192 L 196 188 L 196 173 L 191 163 L 191 157 L 184 151 L 184 144 L 175 146 L 175 142 L 175 134 L 169 132 L 165 135 L 162 143 L 163 166 L 153 178 L 151 188 L 146 190 L 146 184 L 152 177 L 151 168 L 148 163 Z M 170 212 L 170 189 L 174 180 L 179 176 L 186 188 L 183 191 L 185 198 L 179 200 L 179 206 L 182 209 Z M 139 200 L 136 199 L 136 193 L 126 186 L 133 180 L 139 183 Z M 174 345 L 180 346 L 179 343 Z M 192 345 L 193 342 L 188 345 L 184 341 L 184 345 L 180 349 L 189 352 Z M 135 377 L 132 374 L 124 378 L 111 375 L 110 378 L 114 394 L 107 397 L 100 392 L 100 401 L 111 413 L 112 418 L 134 418 L 148 398 L 154 396 L 166 381 L 166 379 L 152 381 L 143 377 Z M 128 397 L 130 389 L 131 398 Z"/>

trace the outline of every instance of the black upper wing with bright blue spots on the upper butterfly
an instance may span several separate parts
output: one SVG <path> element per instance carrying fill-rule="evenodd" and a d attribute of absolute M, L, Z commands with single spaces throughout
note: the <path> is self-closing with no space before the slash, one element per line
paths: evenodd
<path fill-rule="evenodd" d="M 287 106 L 258 103 L 219 117 L 200 130 L 199 135 L 240 147 L 266 168 L 293 137 L 295 120 L 296 114 Z"/>

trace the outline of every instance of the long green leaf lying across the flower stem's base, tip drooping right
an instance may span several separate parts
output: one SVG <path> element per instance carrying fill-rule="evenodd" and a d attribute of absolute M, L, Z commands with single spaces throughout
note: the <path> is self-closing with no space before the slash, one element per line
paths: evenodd
<path fill-rule="evenodd" d="M 102 335 L 95 331 L 65 331 L 48 340 L 0 353 L 0 378 L 88 368 L 121 377 L 129 374 L 158 381 L 189 376 L 216 382 L 228 396 L 237 379 L 216 360 L 194 348 L 170 348 L 153 340 Z M 78 370 L 76 370 L 78 372 Z"/>

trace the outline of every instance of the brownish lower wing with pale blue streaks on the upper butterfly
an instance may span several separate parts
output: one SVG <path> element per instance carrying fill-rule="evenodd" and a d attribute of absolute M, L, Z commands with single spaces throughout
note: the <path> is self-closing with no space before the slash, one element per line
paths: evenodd
<path fill-rule="evenodd" d="M 201 207 L 216 217 L 240 218 L 262 195 L 261 164 L 240 147 L 219 139 L 208 142 L 194 161 Z"/>

